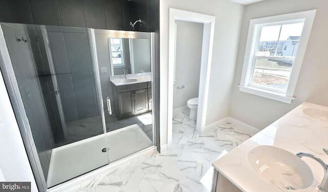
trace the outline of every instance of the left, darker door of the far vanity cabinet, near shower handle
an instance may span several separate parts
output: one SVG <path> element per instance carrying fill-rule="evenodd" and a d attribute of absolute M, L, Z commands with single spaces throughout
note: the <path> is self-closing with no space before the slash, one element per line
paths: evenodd
<path fill-rule="evenodd" d="M 133 92 L 120 92 L 118 95 L 118 108 L 120 117 L 128 117 L 134 113 Z"/>

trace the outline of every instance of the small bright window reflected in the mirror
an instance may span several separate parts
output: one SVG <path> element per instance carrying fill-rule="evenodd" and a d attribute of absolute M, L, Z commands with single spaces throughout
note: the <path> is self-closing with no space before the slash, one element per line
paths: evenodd
<path fill-rule="evenodd" d="M 124 66 L 124 52 L 121 38 L 110 38 L 110 59 L 113 66 Z"/>

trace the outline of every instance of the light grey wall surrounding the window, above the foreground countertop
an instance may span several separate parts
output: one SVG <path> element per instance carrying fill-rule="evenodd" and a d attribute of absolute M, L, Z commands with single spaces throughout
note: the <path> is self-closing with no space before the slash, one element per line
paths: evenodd
<path fill-rule="evenodd" d="M 245 6 L 241 25 L 230 116 L 259 129 L 267 127 L 304 101 L 328 106 L 328 1 L 267 0 Z M 292 104 L 239 91 L 249 23 L 252 18 L 317 9 Z"/>

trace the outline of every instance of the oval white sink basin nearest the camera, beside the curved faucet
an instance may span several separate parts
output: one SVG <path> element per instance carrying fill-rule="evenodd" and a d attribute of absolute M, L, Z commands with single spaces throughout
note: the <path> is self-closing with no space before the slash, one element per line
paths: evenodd
<path fill-rule="evenodd" d="M 285 189 L 304 189 L 313 183 L 310 167 L 295 154 L 269 145 L 248 152 L 250 167 L 262 179 Z"/>

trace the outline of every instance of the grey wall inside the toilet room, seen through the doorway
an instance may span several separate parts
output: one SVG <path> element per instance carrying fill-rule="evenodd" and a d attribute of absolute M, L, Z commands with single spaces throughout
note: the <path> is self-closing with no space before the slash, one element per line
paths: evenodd
<path fill-rule="evenodd" d="M 187 106 L 198 97 L 200 60 L 204 24 L 176 21 L 176 84 L 173 89 L 173 109 Z M 192 32 L 191 32 L 192 31 Z M 177 86 L 185 86 L 177 89 Z"/>

